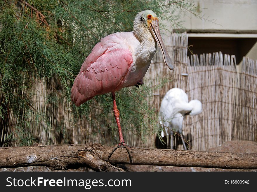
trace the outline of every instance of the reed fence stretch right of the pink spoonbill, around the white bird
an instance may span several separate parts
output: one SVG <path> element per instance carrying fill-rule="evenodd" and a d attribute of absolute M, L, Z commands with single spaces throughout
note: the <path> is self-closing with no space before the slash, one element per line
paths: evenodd
<path fill-rule="evenodd" d="M 172 80 L 153 93 L 152 102 L 157 109 L 173 87 L 184 89 L 189 100 L 202 102 L 203 112 L 186 116 L 183 122 L 184 139 L 190 149 L 208 150 L 230 140 L 257 141 L 257 61 L 244 57 L 242 71 L 237 71 L 235 55 L 215 52 L 188 57 L 186 33 L 172 34 L 165 42 L 169 40 L 172 43 L 166 46 L 173 47 L 175 69 L 169 72 L 164 64 L 159 64 L 158 53 L 146 77 L 153 86 L 158 83 L 154 77 Z M 173 146 L 182 144 L 177 135 L 173 142 Z M 183 149 L 182 145 L 179 149 Z"/>

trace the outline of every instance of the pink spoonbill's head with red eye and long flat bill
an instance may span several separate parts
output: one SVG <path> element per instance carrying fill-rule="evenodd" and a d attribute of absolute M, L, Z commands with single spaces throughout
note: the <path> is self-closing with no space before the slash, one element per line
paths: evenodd
<path fill-rule="evenodd" d="M 156 13 L 154 13 L 152 10 L 140 11 L 134 19 L 133 28 L 135 29 L 139 26 L 145 27 L 150 31 L 154 40 L 162 51 L 164 63 L 169 67 L 169 69 L 174 69 L 173 61 L 162 41 L 159 29 L 159 20 Z"/>

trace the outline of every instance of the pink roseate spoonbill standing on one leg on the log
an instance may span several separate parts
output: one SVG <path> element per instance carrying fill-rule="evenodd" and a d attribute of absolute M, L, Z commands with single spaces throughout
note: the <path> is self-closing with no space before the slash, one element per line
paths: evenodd
<path fill-rule="evenodd" d="M 130 162 L 133 162 L 131 149 L 122 136 L 115 92 L 124 87 L 143 84 L 143 77 L 157 45 L 161 48 L 164 63 L 169 69 L 173 69 L 173 61 L 160 35 L 157 15 L 152 10 L 140 11 L 134 19 L 133 31 L 108 35 L 95 45 L 74 80 L 71 98 L 76 106 L 96 95 L 109 92 L 112 94 L 120 142 L 114 146 L 109 158 L 117 148 L 124 147 Z"/>

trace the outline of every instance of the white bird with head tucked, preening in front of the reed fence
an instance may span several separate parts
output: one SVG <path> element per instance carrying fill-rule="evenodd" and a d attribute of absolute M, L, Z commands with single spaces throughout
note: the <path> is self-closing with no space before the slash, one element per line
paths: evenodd
<path fill-rule="evenodd" d="M 199 100 L 191 100 L 188 102 L 188 96 L 183 89 L 172 88 L 162 99 L 159 117 L 160 124 L 164 128 L 167 138 L 171 135 L 170 148 L 173 149 L 173 132 L 179 133 L 185 150 L 182 125 L 185 115 L 198 115 L 202 112 L 202 103 Z M 164 131 L 161 136 L 164 137 Z"/>

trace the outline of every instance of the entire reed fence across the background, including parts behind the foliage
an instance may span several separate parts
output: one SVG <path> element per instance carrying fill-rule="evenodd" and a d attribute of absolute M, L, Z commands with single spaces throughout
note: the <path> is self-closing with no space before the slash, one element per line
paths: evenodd
<path fill-rule="evenodd" d="M 164 36 L 164 42 L 174 60 L 175 69 L 169 70 L 163 63 L 162 54 L 157 51 L 144 79 L 145 84 L 152 87 L 160 84 L 163 79 L 168 80 L 162 88 L 154 89 L 151 98 L 147 98 L 156 109 L 156 115 L 166 92 L 179 87 L 186 91 L 189 100 L 199 99 L 203 106 L 201 114 L 187 116 L 183 122 L 183 134 L 192 149 L 207 150 L 229 140 L 257 141 L 257 61 L 244 58 L 242 72 L 238 72 L 234 55 L 224 54 L 223 57 L 221 52 L 216 52 L 201 54 L 200 58 L 197 55 L 187 57 L 186 33 Z M 18 94 L 17 89 L 20 88 L 13 89 L 13 95 Z M 110 145 L 110 130 L 103 121 L 99 121 L 99 126 L 105 136 L 93 130 L 86 118 L 75 121 L 72 103 L 67 102 L 62 95 L 55 95 L 58 104 L 47 102 L 53 89 L 58 89 L 58 80 L 55 78 L 49 82 L 44 79 L 34 80 L 32 90 L 20 90 L 22 93 L 31 91 L 35 101 L 31 106 L 34 112 L 27 117 L 22 115 L 30 122 L 27 129 L 23 130 L 25 135 L 36 137 L 44 145 L 85 142 Z M 0 101 L 3 97 L 4 94 L 0 93 Z M 96 109 L 96 114 L 101 112 Z M 15 118 L 12 110 L 8 110 L 7 119 L 0 118 L 2 144 L 8 137 L 22 137 L 23 134 L 17 133 L 15 127 L 20 120 Z M 110 114 L 110 119 L 113 119 L 113 114 Z M 154 134 L 145 143 L 131 131 L 124 131 L 124 134 L 127 144 L 131 146 L 154 147 Z M 18 140 L 8 143 L 8 146 L 18 145 Z"/>

